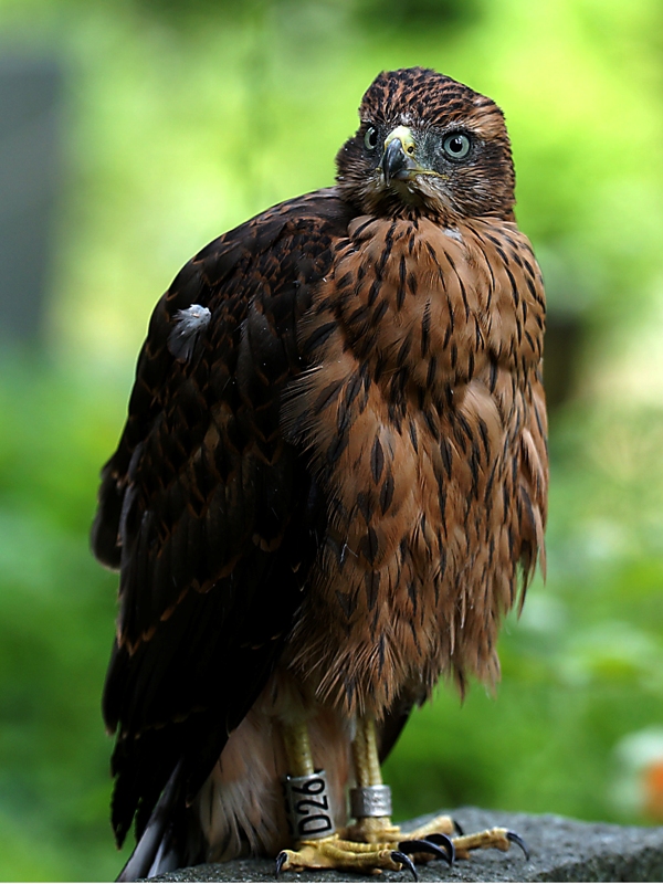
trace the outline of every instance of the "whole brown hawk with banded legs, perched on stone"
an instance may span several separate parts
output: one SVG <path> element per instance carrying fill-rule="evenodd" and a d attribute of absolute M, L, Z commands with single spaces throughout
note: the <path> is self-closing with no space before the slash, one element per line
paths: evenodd
<path fill-rule="evenodd" d="M 450 839 L 449 818 L 402 834 L 380 761 L 441 676 L 498 677 L 499 622 L 543 559 L 541 276 L 493 101 L 414 67 L 359 117 L 334 187 L 177 275 L 103 470 L 124 880 L 517 840 Z"/>

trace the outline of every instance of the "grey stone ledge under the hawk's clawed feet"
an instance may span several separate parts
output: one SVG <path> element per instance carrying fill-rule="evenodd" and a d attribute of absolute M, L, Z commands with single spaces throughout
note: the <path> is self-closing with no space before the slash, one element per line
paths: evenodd
<path fill-rule="evenodd" d="M 441 811 L 444 812 L 444 811 Z M 431 814 L 432 815 L 432 814 Z M 530 859 L 512 846 L 508 853 L 481 850 L 453 869 L 443 862 L 418 867 L 420 881 L 663 881 L 663 828 L 609 825 L 569 820 L 565 817 L 534 817 L 526 813 L 460 808 L 453 818 L 466 833 L 505 825 L 527 842 Z M 413 829 L 431 817 L 403 823 Z M 275 881 L 273 860 L 235 860 L 181 869 L 154 881 Z M 284 872 L 282 884 L 301 882 L 376 882 L 375 875 L 347 872 Z M 411 881 L 408 872 L 386 872 L 382 881 Z"/>

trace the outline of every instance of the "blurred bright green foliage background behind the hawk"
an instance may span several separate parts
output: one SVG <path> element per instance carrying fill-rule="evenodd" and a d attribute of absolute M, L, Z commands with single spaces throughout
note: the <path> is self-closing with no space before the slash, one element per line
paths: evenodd
<path fill-rule="evenodd" d="M 413 715 L 396 818 L 662 821 L 659 0 L 0 0 L 3 53 L 55 59 L 63 86 L 45 307 L 0 348 L 0 878 L 120 867 L 99 714 L 116 578 L 87 534 L 154 303 L 207 241 L 329 185 L 364 90 L 414 64 L 507 116 L 550 303 L 551 495 L 497 698 L 442 686 Z"/>

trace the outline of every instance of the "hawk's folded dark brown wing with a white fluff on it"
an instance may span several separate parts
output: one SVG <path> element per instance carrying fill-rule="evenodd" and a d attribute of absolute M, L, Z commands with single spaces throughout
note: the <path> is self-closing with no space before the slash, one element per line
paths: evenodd
<path fill-rule="evenodd" d="M 346 212 L 333 190 L 275 207 L 200 252 L 154 312 L 93 529 L 120 570 L 104 693 L 119 842 L 176 766 L 198 791 L 301 603 L 324 516 L 281 394 Z"/>

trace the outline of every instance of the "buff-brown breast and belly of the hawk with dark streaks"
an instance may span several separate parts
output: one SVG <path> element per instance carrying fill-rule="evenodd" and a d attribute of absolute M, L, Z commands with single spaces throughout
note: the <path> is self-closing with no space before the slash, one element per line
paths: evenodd
<path fill-rule="evenodd" d="M 336 643 L 347 661 L 370 659 L 370 693 L 389 649 L 434 669 L 459 587 L 473 581 L 467 562 L 487 573 L 496 528 L 478 516 L 504 522 L 507 400 L 540 357 L 540 329 L 530 334 L 527 286 L 516 301 L 475 232 L 355 223 L 302 323 L 313 368 L 290 390 L 284 425 L 327 509 L 301 629 L 320 653 Z"/>

